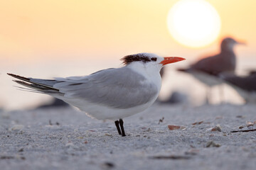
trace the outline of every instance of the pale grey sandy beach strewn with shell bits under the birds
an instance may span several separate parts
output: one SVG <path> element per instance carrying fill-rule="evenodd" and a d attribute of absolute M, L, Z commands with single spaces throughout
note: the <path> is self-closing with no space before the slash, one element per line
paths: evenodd
<path fill-rule="evenodd" d="M 200 125 L 191 125 L 202 120 Z M 73 108 L 1 111 L 0 167 L 251 170 L 256 167 L 256 131 L 230 131 L 255 120 L 255 105 L 191 108 L 154 104 L 144 113 L 125 118 L 128 136 L 121 137 L 113 122 L 92 120 Z M 169 130 L 168 125 L 186 129 Z M 208 130 L 215 125 L 222 132 Z M 206 147 L 210 141 L 220 147 Z"/>

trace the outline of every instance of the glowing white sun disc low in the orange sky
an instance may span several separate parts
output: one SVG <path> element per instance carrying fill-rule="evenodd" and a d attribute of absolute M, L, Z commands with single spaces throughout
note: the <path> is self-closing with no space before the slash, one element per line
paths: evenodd
<path fill-rule="evenodd" d="M 181 0 L 170 9 L 167 25 L 172 37 L 188 47 L 204 47 L 220 33 L 220 16 L 204 0 Z"/>

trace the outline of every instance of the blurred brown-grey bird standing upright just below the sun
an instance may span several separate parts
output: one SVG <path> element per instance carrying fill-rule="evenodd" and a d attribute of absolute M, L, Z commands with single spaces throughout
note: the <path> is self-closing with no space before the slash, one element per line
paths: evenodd
<path fill-rule="evenodd" d="M 245 45 L 245 42 L 234 40 L 233 38 L 224 38 L 220 44 L 220 53 L 210 57 L 204 57 L 198 62 L 191 64 L 187 69 L 178 69 L 178 71 L 192 74 L 193 77 L 207 86 L 222 84 L 219 79 L 222 74 L 234 74 L 236 67 L 236 56 L 234 52 L 235 45 Z M 220 96 L 223 96 L 220 89 Z M 208 91 L 208 95 L 209 95 Z M 208 103 L 209 97 L 206 98 Z"/>

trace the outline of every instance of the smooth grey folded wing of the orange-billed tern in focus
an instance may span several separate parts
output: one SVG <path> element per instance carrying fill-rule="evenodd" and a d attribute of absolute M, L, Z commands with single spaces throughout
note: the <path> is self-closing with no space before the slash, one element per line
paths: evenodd
<path fill-rule="evenodd" d="M 105 69 L 86 77 L 56 78 L 53 85 L 66 98 L 81 98 L 113 108 L 130 108 L 147 103 L 158 94 L 154 84 L 127 67 Z"/>

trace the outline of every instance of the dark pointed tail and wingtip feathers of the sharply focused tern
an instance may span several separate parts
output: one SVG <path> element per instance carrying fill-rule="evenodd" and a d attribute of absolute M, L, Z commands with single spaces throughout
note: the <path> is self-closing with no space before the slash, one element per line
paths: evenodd
<path fill-rule="evenodd" d="M 33 92 L 37 91 L 37 92 L 41 92 L 41 93 L 45 93 L 45 94 L 60 93 L 59 89 L 55 89 L 55 88 L 53 88 L 53 86 L 49 86 L 48 84 L 43 84 L 41 82 L 40 83 L 36 82 L 36 80 L 41 80 L 42 81 L 42 79 L 31 79 L 31 78 L 27 78 L 27 77 L 21 77 L 21 76 L 18 76 L 16 74 L 10 74 L 10 73 L 7 73 L 7 74 L 11 77 L 16 78 L 16 79 L 20 79 L 21 81 L 19 81 L 19 80 L 14 80 L 14 81 L 17 84 L 21 84 L 22 86 L 28 87 Z M 50 80 L 48 80 L 48 81 L 50 81 Z M 52 80 L 52 81 L 54 81 L 54 80 Z"/>

